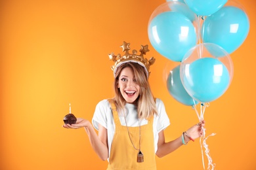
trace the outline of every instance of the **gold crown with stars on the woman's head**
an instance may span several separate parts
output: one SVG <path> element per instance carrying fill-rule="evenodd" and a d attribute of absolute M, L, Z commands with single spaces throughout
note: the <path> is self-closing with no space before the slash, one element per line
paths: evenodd
<path fill-rule="evenodd" d="M 127 62 L 139 63 L 146 70 L 147 76 L 149 76 L 150 65 L 153 65 L 156 59 L 154 57 L 150 58 L 149 60 L 144 58 L 144 54 L 146 55 L 146 52 L 149 52 L 148 45 L 141 45 L 139 55 L 137 54 L 137 50 L 133 50 L 133 53 L 129 54 L 129 50 L 131 49 L 129 45 L 130 43 L 123 41 L 123 45 L 120 46 L 121 48 L 123 48 L 123 52 L 125 52 L 123 56 L 121 56 L 120 54 L 117 54 L 117 56 L 115 56 L 113 52 L 111 54 L 108 54 L 110 60 L 113 60 L 115 62 L 114 65 L 112 65 L 111 67 L 112 71 L 114 71 L 114 76 L 116 76 L 117 67 L 119 67 L 119 65 L 121 65 L 122 63 Z"/>

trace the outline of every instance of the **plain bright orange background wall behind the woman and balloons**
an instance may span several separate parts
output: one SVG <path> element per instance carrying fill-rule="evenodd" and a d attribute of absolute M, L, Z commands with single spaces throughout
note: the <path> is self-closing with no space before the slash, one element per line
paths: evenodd
<path fill-rule="evenodd" d="M 150 14 L 164 2 L 0 1 L 0 169 L 106 169 L 84 129 L 64 129 L 62 118 L 71 103 L 75 116 L 91 120 L 98 101 L 114 95 L 108 54 L 121 53 L 123 41 L 137 50 L 149 44 L 146 58 L 156 58 L 150 84 L 171 120 L 167 141 L 198 122 L 167 92 L 162 75 L 169 61 L 148 40 Z M 256 169 L 256 3 L 239 2 L 249 35 L 230 55 L 232 84 L 205 110 L 207 135 L 217 133 L 207 140 L 217 169 Z M 158 169 L 203 169 L 199 140 L 156 160 Z"/>

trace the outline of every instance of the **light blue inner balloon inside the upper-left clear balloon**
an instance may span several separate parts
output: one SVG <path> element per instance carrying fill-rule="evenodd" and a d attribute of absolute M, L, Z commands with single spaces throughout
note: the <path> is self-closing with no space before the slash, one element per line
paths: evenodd
<path fill-rule="evenodd" d="M 194 25 L 180 12 L 158 14 L 148 25 L 148 37 L 155 50 L 172 61 L 181 61 L 196 45 Z"/>

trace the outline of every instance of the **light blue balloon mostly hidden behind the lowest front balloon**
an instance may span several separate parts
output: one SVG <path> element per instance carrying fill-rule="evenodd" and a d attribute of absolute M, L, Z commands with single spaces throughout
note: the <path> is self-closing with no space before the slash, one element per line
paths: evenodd
<path fill-rule="evenodd" d="M 179 103 L 187 106 L 193 106 L 197 104 L 198 101 L 194 101 L 194 99 L 184 89 L 181 82 L 180 66 L 181 65 L 178 65 L 170 71 L 167 78 L 167 90 L 176 101 L 179 101 Z"/>

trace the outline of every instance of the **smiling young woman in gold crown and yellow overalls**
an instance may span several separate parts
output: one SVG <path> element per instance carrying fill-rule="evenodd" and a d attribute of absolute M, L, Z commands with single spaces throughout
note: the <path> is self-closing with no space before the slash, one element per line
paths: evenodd
<path fill-rule="evenodd" d="M 110 56 L 116 61 L 112 67 L 116 96 L 96 105 L 93 125 L 77 118 L 76 124 L 64 127 L 84 127 L 96 154 L 108 160 L 108 169 L 156 169 L 155 155 L 163 157 L 201 137 L 205 124 L 199 122 L 174 141 L 165 142 L 163 131 L 170 123 L 163 102 L 154 98 L 148 84 L 150 64 L 143 58 L 147 46 L 142 46 L 140 55 L 129 54 L 125 43 L 123 60 Z"/>

